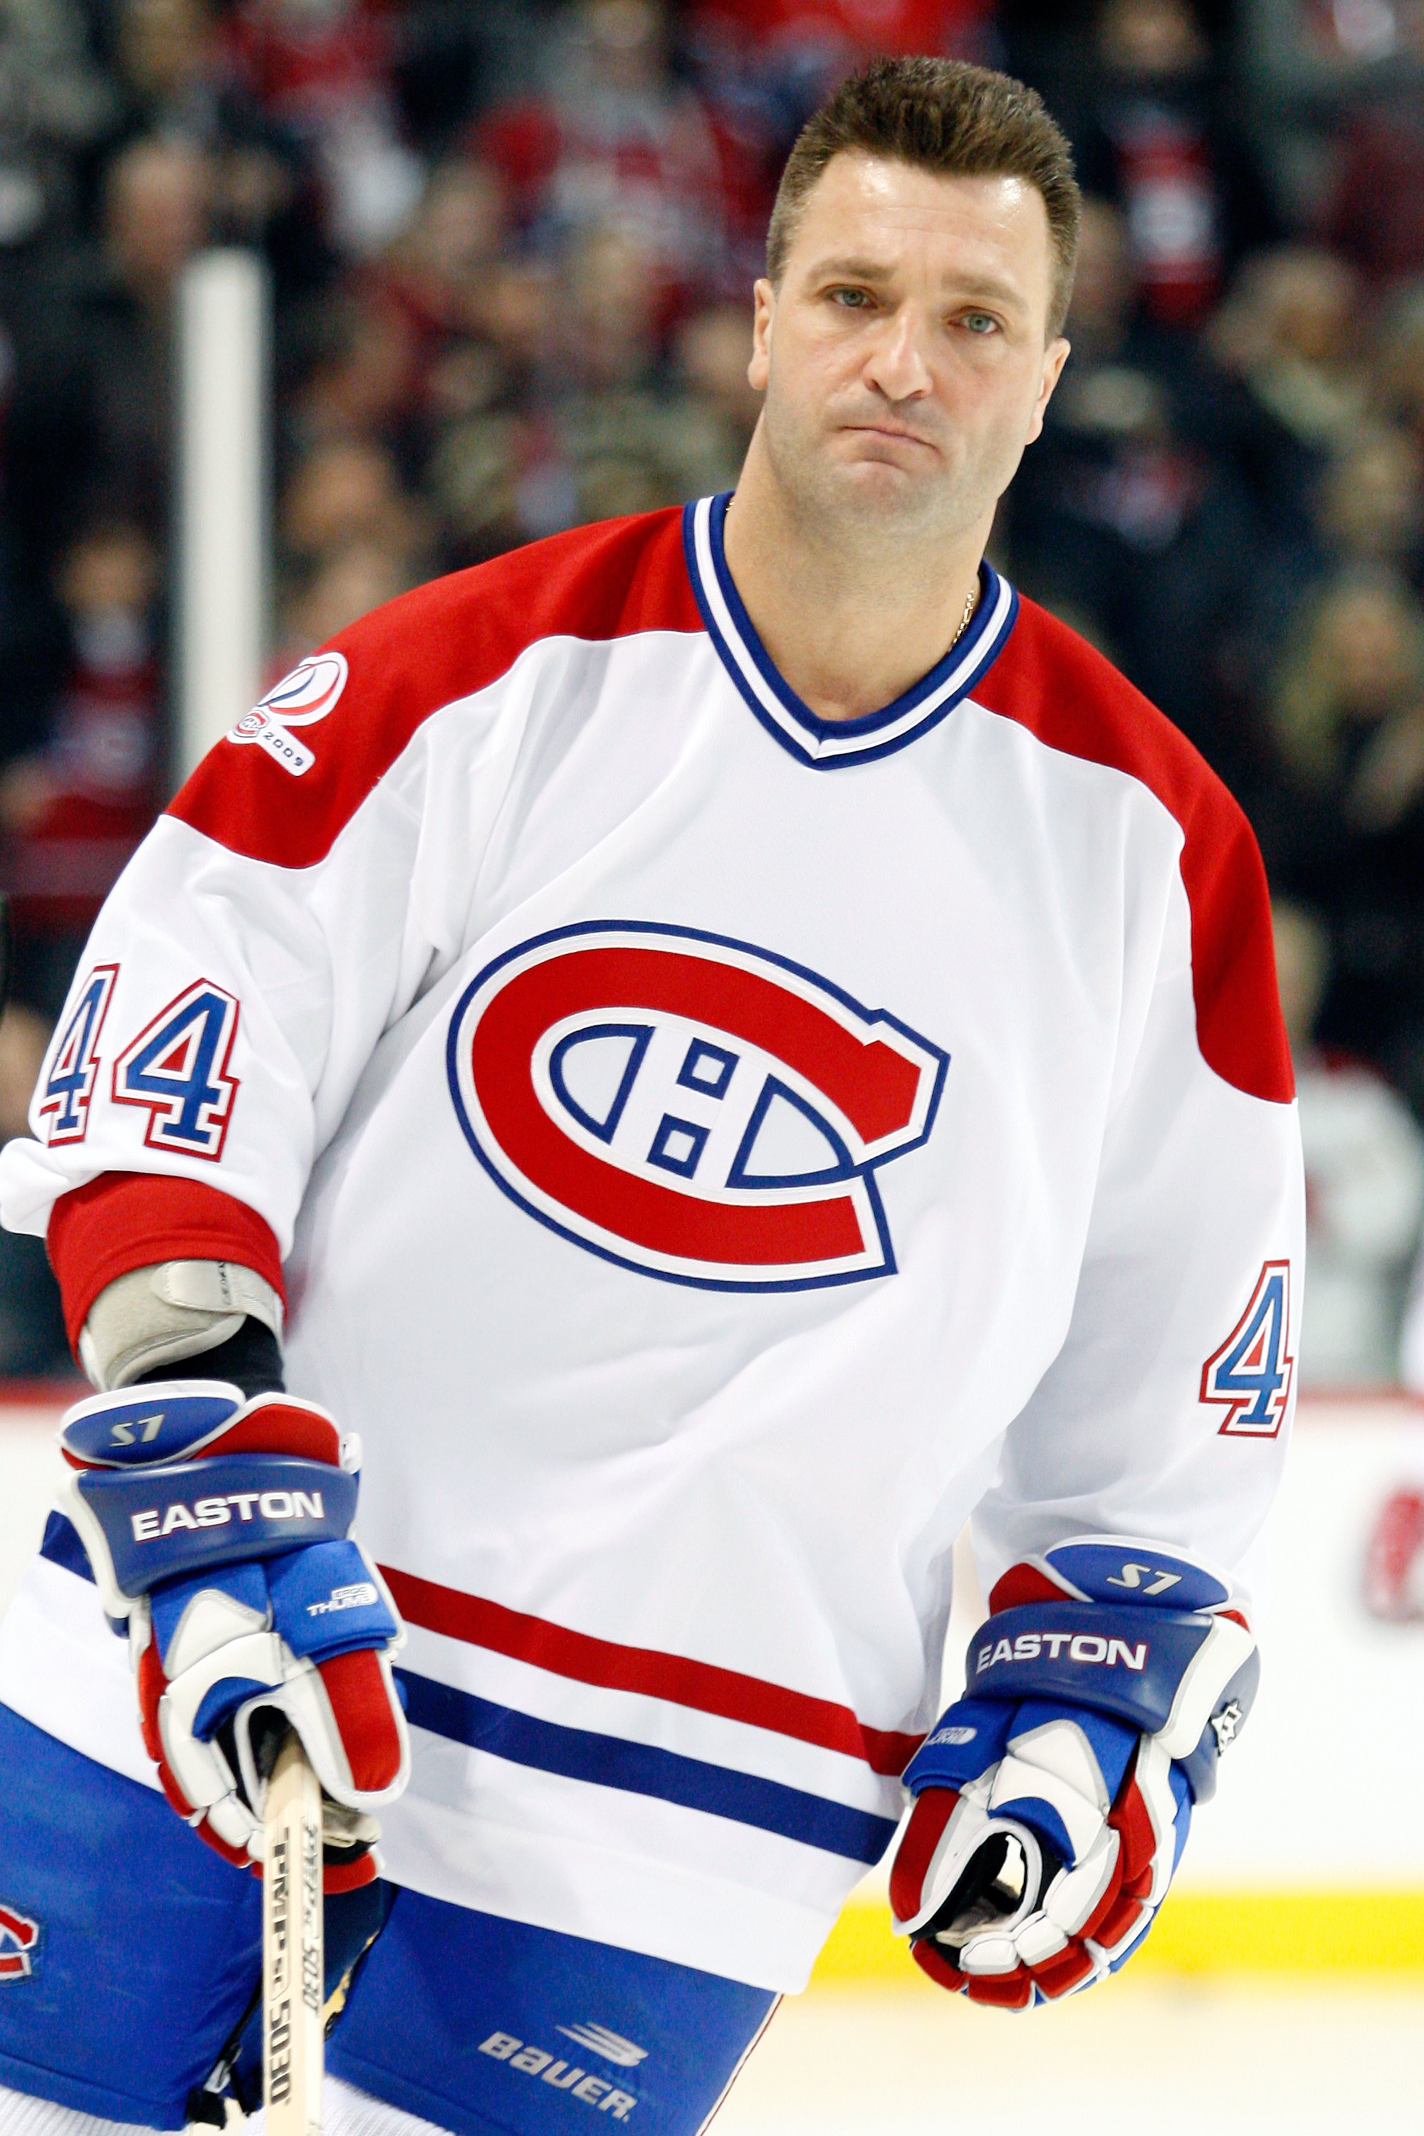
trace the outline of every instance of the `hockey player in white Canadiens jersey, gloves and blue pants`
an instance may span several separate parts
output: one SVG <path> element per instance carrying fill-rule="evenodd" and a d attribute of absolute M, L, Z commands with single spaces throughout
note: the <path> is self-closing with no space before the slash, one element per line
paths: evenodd
<path fill-rule="evenodd" d="M 100 1388 L 0 1651 L 15 2127 L 250 2098 L 286 1715 L 333 2127 L 690 2136 L 895 1837 L 971 1510 L 899 1925 L 1014 2006 L 1146 1929 L 1251 1696 L 1300 1160 L 1240 814 L 982 562 L 1076 211 L 1018 83 L 850 81 L 730 504 L 357 624 L 115 891 L 4 1162 Z"/>

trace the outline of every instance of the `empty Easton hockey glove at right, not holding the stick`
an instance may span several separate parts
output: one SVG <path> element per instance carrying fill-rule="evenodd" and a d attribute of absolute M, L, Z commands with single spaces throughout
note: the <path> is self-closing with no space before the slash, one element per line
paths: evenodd
<path fill-rule="evenodd" d="M 1151 1542 L 1074 1538 L 991 1606 L 905 1769 L 890 1905 L 931 1980 L 1027 2010 L 1146 1935 L 1260 1662 L 1230 1589 Z"/>

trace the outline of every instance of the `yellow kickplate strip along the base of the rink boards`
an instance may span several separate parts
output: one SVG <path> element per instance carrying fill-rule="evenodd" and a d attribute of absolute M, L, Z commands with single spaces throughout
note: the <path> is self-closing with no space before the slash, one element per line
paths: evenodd
<path fill-rule="evenodd" d="M 1132 1972 L 1424 1974 L 1424 1890 L 1172 1892 Z M 852 1899 L 816 1961 L 811 1986 L 931 1982 L 890 1933 L 884 1901 Z"/>

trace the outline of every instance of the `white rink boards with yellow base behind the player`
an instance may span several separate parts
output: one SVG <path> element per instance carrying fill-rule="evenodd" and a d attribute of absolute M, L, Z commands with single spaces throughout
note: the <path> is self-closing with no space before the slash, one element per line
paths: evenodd
<path fill-rule="evenodd" d="M 38 1542 L 56 1461 L 58 1403 L 26 1395 L 0 1399 L 0 1602 Z M 1424 1974 L 1424 1623 L 1379 1623 L 1362 1602 L 1368 1534 L 1401 1485 L 1424 1485 L 1420 1408 L 1302 1405 L 1262 1696 L 1134 1972 Z M 969 1596 L 956 1617 L 954 1640 L 974 1628 Z M 922 1984 L 890 1935 L 884 1871 L 845 1907 L 816 1980 Z"/>

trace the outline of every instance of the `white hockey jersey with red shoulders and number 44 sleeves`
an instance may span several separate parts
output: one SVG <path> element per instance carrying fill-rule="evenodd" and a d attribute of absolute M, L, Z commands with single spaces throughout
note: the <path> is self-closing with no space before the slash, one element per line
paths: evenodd
<path fill-rule="evenodd" d="M 246 1262 L 365 1446 L 418 1890 L 798 1986 L 888 1846 L 950 1557 L 1240 1568 L 1302 1192 L 1251 833 L 988 568 L 818 720 L 726 500 L 427 585 L 303 662 L 113 891 L 4 1222 L 70 1322 Z M 152 1777 L 92 1589 L 0 1698 Z"/>

